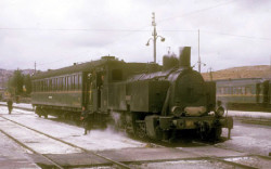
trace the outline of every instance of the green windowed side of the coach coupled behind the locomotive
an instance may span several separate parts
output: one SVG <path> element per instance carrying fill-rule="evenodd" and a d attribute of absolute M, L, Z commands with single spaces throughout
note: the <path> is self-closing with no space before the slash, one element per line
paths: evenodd
<path fill-rule="evenodd" d="M 59 107 L 81 107 L 81 74 L 33 80 L 31 103 Z"/>

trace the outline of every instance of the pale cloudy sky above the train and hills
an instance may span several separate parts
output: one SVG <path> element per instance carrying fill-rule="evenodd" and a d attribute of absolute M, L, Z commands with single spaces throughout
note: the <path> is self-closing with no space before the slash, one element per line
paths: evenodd
<path fill-rule="evenodd" d="M 157 38 L 159 64 L 191 47 L 197 69 L 199 37 L 202 72 L 269 65 L 270 10 L 270 0 L 1 0 L 0 68 L 56 69 L 104 55 L 153 62 L 153 12 L 166 38 Z"/>

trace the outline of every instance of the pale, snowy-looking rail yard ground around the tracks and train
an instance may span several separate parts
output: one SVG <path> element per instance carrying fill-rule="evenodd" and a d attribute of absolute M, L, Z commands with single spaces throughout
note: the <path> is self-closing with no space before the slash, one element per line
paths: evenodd
<path fill-rule="evenodd" d="M 22 105 L 30 108 L 29 105 Z M 229 115 L 241 115 L 244 113 L 229 112 Z M 245 113 L 248 115 L 248 113 Z M 251 114 L 251 113 L 250 113 Z M 254 114 L 255 115 L 255 114 Z M 264 117 L 264 114 L 258 114 L 256 117 Z M 269 114 L 266 116 L 269 118 Z M 75 125 L 68 125 L 56 120 L 53 117 L 49 119 L 39 118 L 33 112 L 14 109 L 12 115 L 8 114 L 8 108 L 0 106 L 0 129 L 33 150 L 57 159 L 60 164 L 105 164 L 105 160 L 94 157 L 90 152 L 83 152 L 80 148 L 72 147 L 59 141 L 40 135 L 31 130 L 24 129 L 5 118 L 27 127 L 34 128 L 40 132 L 50 134 L 65 142 L 76 144 L 79 147 L 90 152 L 106 156 L 113 160 L 131 162 L 130 167 L 134 168 L 232 168 L 231 165 L 211 159 L 223 157 L 229 161 L 238 161 L 249 164 L 257 168 L 268 168 L 271 160 L 262 160 L 249 155 L 268 156 L 271 152 L 271 132 L 270 126 L 260 126 L 243 123 L 234 120 L 234 129 L 230 140 L 216 144 L 197 144 L 185 143 L 176 147 L 157 147 L 150 143 L 129 138 L 122 132 L 116 132 L 111 128 L 105 130 L 92 130 L 89 134 L 83 135 L 83 129 Z M 37 159 L 33 153 L 17 145 L 14 141 L 0 132 L 0 168 L 4 165 L 13 164 L 12 168 L 38 168 L 35 164 Z M 228 131 L 223 130 L 222 135 L 227 136 Z M 3 139 L 2 139 L 3 138 Z M 13 151 L 9 151 L 13 150 Z M 241 157 L 242 156 L 242 157 Z M 206 159 L 201 159 L 205 157 Z M 236 158 L 234 158 L 236 157 Z M 80 161 L 77 160 L 80 159 Z M 171 161 L 165 161 L 171 159 Z M 156 160 L 156 162 L 152 162 Z M 253 162 L 253 164 L 251 164 Z M 10 167 L 10 166 L 9 166 Z M 9 168 L 8 167 L 8 168 Z M 106 166 L 104 166 L 106 168 Z M 3 168 L 7 168 L 3 167 Z"/>

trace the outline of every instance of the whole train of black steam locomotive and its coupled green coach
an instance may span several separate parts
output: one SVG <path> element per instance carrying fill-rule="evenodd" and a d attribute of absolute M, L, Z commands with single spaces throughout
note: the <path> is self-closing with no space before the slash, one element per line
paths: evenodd
<path fill-rule="evenodd" d="M 92 121 L 116 126 L 144 139 L 168 141 L 181 132 L 219 139 L 233 128 L 216 106 L 216 83 L 205 82 L 190 64 L 191 48 L 155 63 L 126 63 L 114 56 L 49 70 L 33 77 L 33 105 L 48 114 L 78 119 L 85 106 Z"/>

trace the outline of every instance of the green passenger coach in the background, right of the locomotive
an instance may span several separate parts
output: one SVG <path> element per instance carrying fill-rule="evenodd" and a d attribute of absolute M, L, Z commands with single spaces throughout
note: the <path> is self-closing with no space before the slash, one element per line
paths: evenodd
<path fill-rule="evenodd" d="M 217 80 L 217 100 L 229 108 L 271 110 L 271 83 L 263 78 Z"/>

